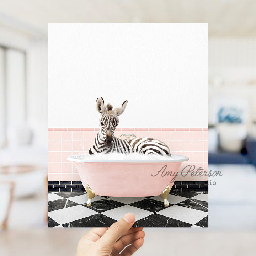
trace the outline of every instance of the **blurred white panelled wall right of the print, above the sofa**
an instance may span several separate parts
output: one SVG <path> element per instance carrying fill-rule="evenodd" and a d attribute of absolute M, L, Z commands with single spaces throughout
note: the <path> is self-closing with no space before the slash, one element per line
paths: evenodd
<path fill-rule="evenodd" d="M 209 77 L 226 85 L 256 85 L 256 38 L 210 38 Z"/>

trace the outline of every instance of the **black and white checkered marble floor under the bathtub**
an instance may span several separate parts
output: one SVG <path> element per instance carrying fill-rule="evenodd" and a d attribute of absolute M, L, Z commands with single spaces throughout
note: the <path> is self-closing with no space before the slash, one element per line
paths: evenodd
<path fill-rule="evenodd" d="M 87 207 L 84 192 L 48 192 L 49 227 L 109 227 L 132 212 L 138 227 L 208 227 L 208 192 L 170 192 L 160 196 L 95 196 Z"/>

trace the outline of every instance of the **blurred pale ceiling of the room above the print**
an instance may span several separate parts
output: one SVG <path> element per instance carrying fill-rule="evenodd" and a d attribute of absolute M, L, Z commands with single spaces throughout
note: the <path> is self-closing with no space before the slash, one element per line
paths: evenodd
<path fill-rule="evenodd" d="M 208 22 L 209 36 L 256 37 L 256 1 L 0 1 L 2 25 L 47 36 L 48 22 Z"/>

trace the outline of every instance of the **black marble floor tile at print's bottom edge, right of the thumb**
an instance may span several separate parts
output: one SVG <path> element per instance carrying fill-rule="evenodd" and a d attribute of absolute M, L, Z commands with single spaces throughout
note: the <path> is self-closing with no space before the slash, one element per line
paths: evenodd
<path fill-rule="evenodd" d="M 186 222 L 182 222 L 180 220 L 172 219 L 169 217 L 165 217 L 163 215 L 154 213 L 145 217 L 143 219 L 137 220 L 133 227 L 159 227 L 159 228 L 171 228 L 171 227 L 188 227 L 190 228 L 192 225 Z"/>

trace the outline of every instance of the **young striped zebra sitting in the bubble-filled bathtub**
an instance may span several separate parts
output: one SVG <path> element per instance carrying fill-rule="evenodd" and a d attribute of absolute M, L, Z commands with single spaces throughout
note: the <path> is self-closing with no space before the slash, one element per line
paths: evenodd
<path fill-rule="evenodd" d="M 96 153 L 122 153 L 130 154 L 138 152 L 140 154 L 154 154 L 171 156 L 168 146 L 160 140 L 153 138 L 128 138 L 125 140 L 116 138 L 114 131 L 119 123 L 119 118 L 128 101 L 124 101 L 120 107 L 114 108 L 109 103 L 105 105 L 102 97 L 96 100 L 96 109 L 101 114 L 99 131 L 94 140 L 94 145 L 89 149 L 89 154 Z"/>

